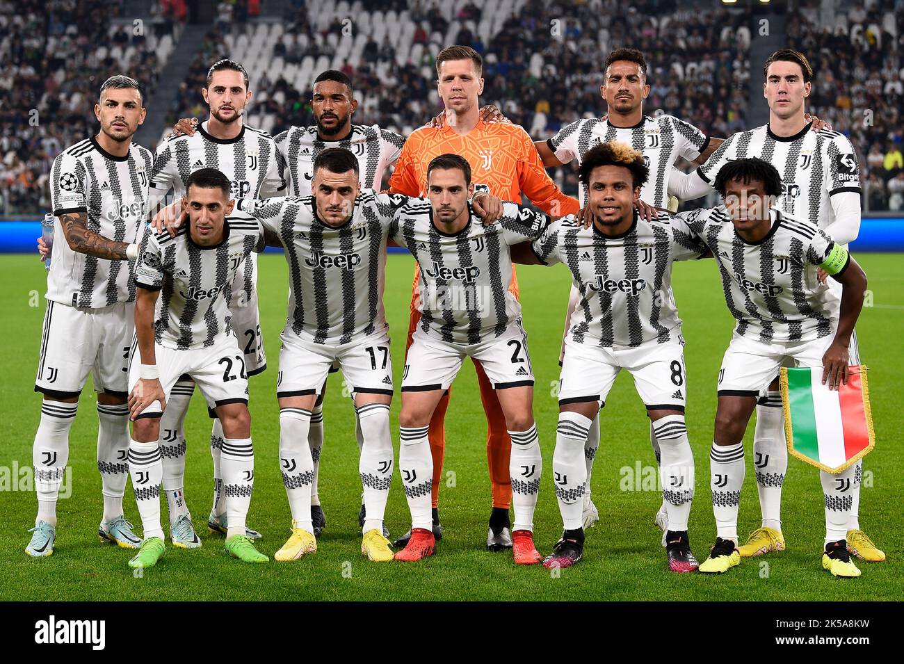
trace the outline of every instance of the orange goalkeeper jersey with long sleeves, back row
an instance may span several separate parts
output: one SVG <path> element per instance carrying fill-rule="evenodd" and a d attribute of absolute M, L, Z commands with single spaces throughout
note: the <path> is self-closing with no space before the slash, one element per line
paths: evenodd
<path fill-rule="evenodd" d="M 579 210 L 577 199 L 562 193 L 546 173 L 531 136 L 521 126 L 507 122 L 486 124 L 478 120 L 465 136 L 458 136 L 448 124 L 416 129 L 402 147 L 390 191 L 424 196 L 428 164 L 447 153 L 460 154 L 471 164 L 471 182 L 476 191 L 485 188 L 503 201 L 516 203 L 521 202 L 523 192 L 551 217 Z"/>

